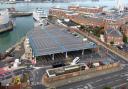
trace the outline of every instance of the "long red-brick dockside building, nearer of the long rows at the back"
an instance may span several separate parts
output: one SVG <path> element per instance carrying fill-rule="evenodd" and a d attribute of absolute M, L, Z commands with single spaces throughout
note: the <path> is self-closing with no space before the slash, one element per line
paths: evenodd
<path fill-rule="evenodd" d="M 92 17 L 86 17 L 84 15 L 80 15 L 76 12 L 73 11 L 68 11 L 64 9 L 59 9 L 59 8 L 52 8 L 49 10 L 49 14 L 56 16 L 58 18 L 68 18 L 74 21 L 75 23 L 79 23 L 82 25 L 90 25 L 90 26 L 99 26 L 99 27 L 104 27 L 104 21 L 99 18 L 92 18 Z"/>

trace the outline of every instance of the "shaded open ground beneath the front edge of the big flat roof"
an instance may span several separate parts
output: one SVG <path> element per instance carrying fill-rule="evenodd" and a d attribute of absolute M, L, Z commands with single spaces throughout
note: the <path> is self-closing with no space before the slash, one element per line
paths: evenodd
<path fill-rule="evenodd" d="M 106 62 L 113 62 L 113 58 L 109 55 L 99 55 L 99 53 L 91 51 L 91 50 L 84 50 L 84 55 L 82 55 L 82 51 L 74 51 L 67 53 L 68 58 L 65 57 L 65 54 L 59 53 L 55 54 L 54 60 L 52 60 L 52 56 L 42 56 L 37 59 L 37 66 L 49 66 L 54 63 L 64 63 L 65 65 L 69 65 L 74 58 L 80 57 L 80 63 L 88 63 L 88 62 L 97 62 L 97 61 L 106 61 Z"/>

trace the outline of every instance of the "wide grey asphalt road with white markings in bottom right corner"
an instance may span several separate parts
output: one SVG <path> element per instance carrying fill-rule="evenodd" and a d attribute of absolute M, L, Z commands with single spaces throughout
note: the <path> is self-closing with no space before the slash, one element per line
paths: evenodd
<path fill-rule="evenodd" d="M 121 71 L 110 73 L 84 81 L 68 84 L 57 89 L 103 89 L 105 86 L 110 86 L 113 89 L 121 89 L 128 85 L 128 66 Z M 126 88 L 128 89 L 128 88 Z"/>

